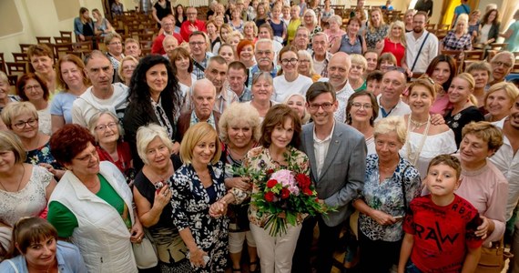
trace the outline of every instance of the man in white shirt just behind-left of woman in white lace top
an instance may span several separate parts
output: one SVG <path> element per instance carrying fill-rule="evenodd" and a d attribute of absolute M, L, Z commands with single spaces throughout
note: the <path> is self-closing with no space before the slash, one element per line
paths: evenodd
<path fill-rule="evenodd" d="M 402 67 L 390 67 L 384 76 L 382 76 L 381 95 L 377 96 L 380 111 L 377 119 L 380 120 L 386 116 L 403 116 L 411 114 L 411 108 L 406 105 L 400 96 L 405 85 L 407 84 L 407 76 Z"/>

